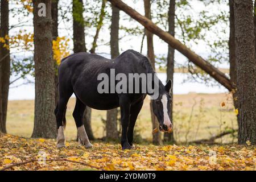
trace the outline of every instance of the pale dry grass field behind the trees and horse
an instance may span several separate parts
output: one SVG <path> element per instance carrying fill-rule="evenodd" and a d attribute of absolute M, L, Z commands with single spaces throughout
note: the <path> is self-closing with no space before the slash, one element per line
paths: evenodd
<path fill-rule="evenodd" d="M 231 99 L 232 100 L 232 99 Z M 225 102 L 225 107 L 221 107 Z M 76 138 L 76 126 L 72 112 L 75 98 L 71 98 L 67 107 L 67 140 Z M 182 94 L 174 96 L 174 134 L 178 142 L 209 138 L 228 128 L 237 128 L 236 114 L 233 112 L 228 94 Z M 105 135 L 102 118 L 106 111 L 92 110 L 92 129 L 96 138 Z M 9 101 L 7 132 L 20 137 L 31 137 L 34 119 L 34 101 Z M 151 121 L 149 100 L 146 98 L 139 114 L 135 129 L 143 139 L 151 140 Z M 235 142 L 232 137 L 222 139 L 223 143 Z"/>

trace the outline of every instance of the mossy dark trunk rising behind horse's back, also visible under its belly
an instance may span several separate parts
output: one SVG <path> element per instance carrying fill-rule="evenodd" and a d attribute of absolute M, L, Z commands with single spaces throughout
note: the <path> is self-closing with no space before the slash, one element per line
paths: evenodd
<path fill-rule="evenodd" d="M 84 18 L 82 13 L 84 11 L 84 6 L 82 0 L 73 0 L 73 43 L 74 43 L 74 53 L 76 52 L 86 52 L 85 47 L 85 34 L 84 34 Z M 86 106 L 84 111 L 84 117 L 82 122 L 84 123 L 85 131 L 90 140 L 94 139 L 92 125 L 91 125 L 91 112 L 92 109 Z"/>

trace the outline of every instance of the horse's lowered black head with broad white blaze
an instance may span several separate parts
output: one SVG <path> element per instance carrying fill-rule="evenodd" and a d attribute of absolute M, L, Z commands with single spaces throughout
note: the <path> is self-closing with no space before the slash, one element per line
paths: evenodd
<path fill-rule="evenodd" d="M 172 87 L 172 81 L 169 80 L 166 86 L 163 86 L 162 92 L 159 92 L 157 99 L 152 100 L 152 109 L 159 122 L 159 130 L 163 132 L 171 131 L 172 123 L 170 120 L 170 105 L 172 98 L 170 96 L 170 90 Z"/>

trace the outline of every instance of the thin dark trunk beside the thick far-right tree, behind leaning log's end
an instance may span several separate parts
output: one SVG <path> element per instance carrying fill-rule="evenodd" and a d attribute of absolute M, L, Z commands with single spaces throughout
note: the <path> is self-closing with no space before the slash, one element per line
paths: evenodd
<path fill-rule="evenodd" d="M 237 100 L 237 66 L 236 66 L 236 42 L 235 42 L 235 27 L 234 27 L 234 0 L 229 0 L 229 75 L 233 86 L 232 94 L 234 107 L 238 108 Z"/>

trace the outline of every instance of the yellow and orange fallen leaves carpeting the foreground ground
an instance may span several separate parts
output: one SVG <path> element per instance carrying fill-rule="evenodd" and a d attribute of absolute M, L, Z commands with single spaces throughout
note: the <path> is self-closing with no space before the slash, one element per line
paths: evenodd
<path fill-rule="evenodd" d="M 77 142 L 56 148 L 56 140 L 0 138 L 0 168 L 13 163 L 39 159 L 40 162 L 15 166 L 11 170 L 88 170 L 88 166 L 67 161 L 88 163 L 104 170 L 255 170 L 255 146 L 143 146 L 121 150 L 119 144 L 92 142 L 86 149 Z M 89 167 L 89 169 L 92 169 Z"/>

